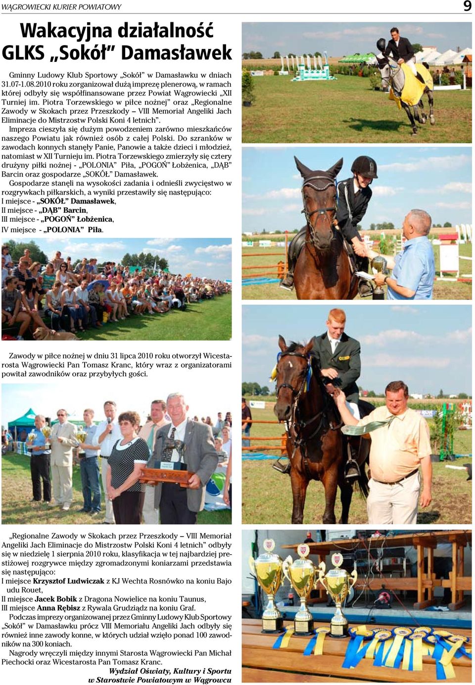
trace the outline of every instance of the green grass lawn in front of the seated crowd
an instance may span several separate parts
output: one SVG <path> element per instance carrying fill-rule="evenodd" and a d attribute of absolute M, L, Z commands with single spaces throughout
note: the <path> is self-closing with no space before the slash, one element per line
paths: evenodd
<path fill-rule="evenodd" d="M 133 314 L 125 321 L 78 332 L 81 340 L 229 340 L 231 293 L 166 314 Z"/>

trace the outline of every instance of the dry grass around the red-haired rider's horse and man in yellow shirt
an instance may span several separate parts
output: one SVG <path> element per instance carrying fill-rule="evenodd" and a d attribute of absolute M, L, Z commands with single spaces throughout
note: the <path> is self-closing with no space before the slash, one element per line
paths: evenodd
<path fill-rule="evenodd" d="M 261 398 L 259 398 L 261 399 Z M 409 402 L 410 406 L 410 402 Z M 265 410 L 253 410 L 253 419 L 261 421 L 275 420 L 272 412 L 273 403 L 266 403 Z M 431 421 L 429 420 L 429 425 Z M 283 425 L 254 424 L 251 437 L 281 436 Z M 257 446 L 259 441 L 251 445 Z M 264 444 L 266 444 L 264 442 Z M 272 443 L 273 444 L 273 443 Z M 280 443 L 276 441 L 276 445 Z M 457 431 L 454 435 L 454 452 L 472 453 L 472 431 Z M 268 452 L 269 453 L 269 452 Z M 274 454 L 279 454 L 277 449 Z M 472 458 L 461 458 L 454 466 L 472 462 Z M 433 464 L 433 501 L 431 505 L 418 514 L 418 523 L 454 523 L 467 525 L 472 523 L 472 482 L 466 480 L 465 471 L 446 469 L 446 463 Z M 307 490 L 307 501 L 303 525 L 321 523 L 324 510 L 324 489 L 321 483 L 312 481 Z M 339 491 L 335 513 L 337 520 L 341 513 Z M 272 460 L 242 461 L 242 523 L 249 524 L 282 524 L 291 523 L 292 490 L 290 477 L 272 469 Z M 359 495 L 353 495 L 348 523 L 367 523 L 365 501 Z"/>

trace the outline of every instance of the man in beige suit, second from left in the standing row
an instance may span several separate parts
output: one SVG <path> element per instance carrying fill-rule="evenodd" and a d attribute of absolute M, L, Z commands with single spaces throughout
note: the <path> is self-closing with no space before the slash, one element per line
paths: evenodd
<path fill-rule="evenodd" d="M 62 506 L 67 512 L 73 502 L 73 447 L 79 445 L 76 427 L 68 421 L 65 409 L 57 410 L 57 420 L 51 430 L 51 477 L 53 497 L 50 506 Z"/>

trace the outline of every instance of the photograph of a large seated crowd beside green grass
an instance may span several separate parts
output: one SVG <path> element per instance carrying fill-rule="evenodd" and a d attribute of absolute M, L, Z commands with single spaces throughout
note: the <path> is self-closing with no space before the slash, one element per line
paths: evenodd
<path fill-rule="evenodd" d="M 39 241 L 38 241 L 39 242 Z M 120 241 L 127 249 L 127 242 Z M 153 241 L 149 241 L 153 242 Z M 185 243 L 187 241 L 181 240 Z M 194 240 L 193 242 L 198 242 Z M 49 256 L 31 242 L 5 243 L 2 261 L 2 338 L 3 340 L 218 340 L 231 337 L 231 245 L 216 240 L 216 245 L 196 247 L 218 257 L 225 256 L 229 277 L 216 277 L 213 262 L 203 262 L 207 275 L 178 273 L 183 262 L 174 266 L 179 245 L 170 252 L 164 247 L 142 253 L 123 252 L 120 260 L 101 260 L 97 256 L 71 257 L 60 249 Z M 27 247 L 24 247 L 27 245 Z M 71 247 L 68 245 L 67 247 Z M 84 247 L 81 245 L 81 247 Z M 224 248 L 224 249 L 223 249 Z M 88 246 L 94 251 L 94 244 Z M 80 251 L 77 254 L 82 254 Z M 111 252 L 116 253 L 116 248 Z M 107 253 L 107 249 L 105 250 Z M 89 253 L 89 255 L 90 255 Z M 191 264 L 190 266 L 195 266 Z M 199 264 L 196 264 L 199 266 Z M 218 264 L 217 264 L 218 266 Z M 219 266 L 222 266 L 220 259 Z M 203 269 L 203 267 L 202 267 Z M 175 273 L 175 271 L 177 273 Z M 184 271 L 184 269 L 183 269 Z M 220 269 L 222 271 L 222 269 Z M 173 273 L 172 273 L 173 272 Z M 222 296 L 228 296 L 222 298 Z M 209 307 L 209 301 L 222 300 Z M 174 317 L 170 327 L 152 320 L 164 314 L 200 312 L 209 325 L 190 326 L 190 316 Z M 192 317 L 191 317 L 192 318 Z"/>

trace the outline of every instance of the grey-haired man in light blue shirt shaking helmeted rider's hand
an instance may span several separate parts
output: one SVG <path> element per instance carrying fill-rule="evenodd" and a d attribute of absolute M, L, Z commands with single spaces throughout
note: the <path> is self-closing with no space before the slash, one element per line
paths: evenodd
<path fill-rule="evenodd" d="M 435 262 L 428 232 L 432 219 L 424 210 L 411 210 L 402 224 L 402 234 L 406 242 L 396 257 L 385 256 L 392 275 L 376 273 L 374 282 L 378 286 L 387 285 L 387 299 L 412 300 L 432 299 L 434 287 Z M 370 259 L 376 252 L 369 250 Z"/>

